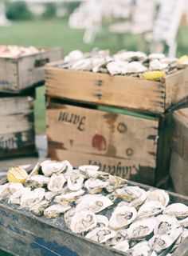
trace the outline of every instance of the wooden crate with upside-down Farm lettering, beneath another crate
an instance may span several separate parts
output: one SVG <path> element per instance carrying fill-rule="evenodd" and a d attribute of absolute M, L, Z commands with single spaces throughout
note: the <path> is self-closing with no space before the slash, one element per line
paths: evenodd
<path fill-rule="evenodd" d="M 117 114 L 110 110 L 102 106 L 94 110 L 65 105 L 50 98 L 49 157 L 69 159 L 74 166 L 96 164 L 111 174 L 150 185 L 166 182 L 170 162 L 169 118 L 152 118 L 125 110 L 116 110 L 122 113 Z"/>

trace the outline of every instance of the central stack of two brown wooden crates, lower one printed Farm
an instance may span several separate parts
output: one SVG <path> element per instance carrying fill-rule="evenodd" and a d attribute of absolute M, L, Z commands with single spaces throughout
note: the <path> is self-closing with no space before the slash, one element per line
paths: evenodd
<path fill-rule="evenodd" d="M 47 65 L 49 157 L 67 158 L 75 166 L 96 164 L 111 174 L 150 185 L 164 184 L 170 165 L 171 119 L 165 113 L 186 98 L 187 71 L 154 82 L 64 70 L 61 62 Z"/>

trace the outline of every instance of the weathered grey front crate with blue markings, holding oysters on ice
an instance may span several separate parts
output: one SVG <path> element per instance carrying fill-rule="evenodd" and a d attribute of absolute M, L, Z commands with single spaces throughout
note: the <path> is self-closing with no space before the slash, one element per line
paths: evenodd
<path fill-rule="evenodd" d="M 127 181 L 128 185 L 140 186 L 145 190 L 151 187 Z M 182 202 L 188 205 L 188 198 L 168 192 L 170 202 Z M 186 238 L 172 256 L 188 255 Z M 13 255 L 22 256 L 126 256 L 127 254 L 93 242 L 65 229 L 63 221 L 54 221 L 45 217 L 36 217 L 29 211 L 16 206 L 0 203 L 0 249 Z"/>

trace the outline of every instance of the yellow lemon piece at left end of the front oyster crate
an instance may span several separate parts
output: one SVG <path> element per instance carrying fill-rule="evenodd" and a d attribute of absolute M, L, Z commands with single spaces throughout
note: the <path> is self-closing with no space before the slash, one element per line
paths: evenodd
<path fill-rule="evenodd" d="M 9 182 L 24 183 L 28 174 L 21 166 L 10 167 L 7 173 L 7 179 Z"/>

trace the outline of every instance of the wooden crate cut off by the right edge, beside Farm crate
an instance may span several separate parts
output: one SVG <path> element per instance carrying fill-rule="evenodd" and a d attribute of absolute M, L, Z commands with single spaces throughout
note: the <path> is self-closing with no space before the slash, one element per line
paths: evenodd
<path fill-rule="evenodd" d="M 188 195 L 188 109 L 174 111 L 170 176 L 174 190 Z"/>

